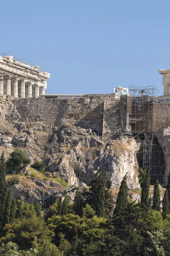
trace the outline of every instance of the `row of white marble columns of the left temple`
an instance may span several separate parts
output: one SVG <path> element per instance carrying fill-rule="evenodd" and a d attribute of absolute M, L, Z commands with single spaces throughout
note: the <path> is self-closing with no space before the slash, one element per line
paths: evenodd
<path fill-rule="evenodd" d="M 14 98 L 38 97 L 45 94 L 45 88 L 26 80 L 0 77 L 0 95 L 11 95 Z"/>

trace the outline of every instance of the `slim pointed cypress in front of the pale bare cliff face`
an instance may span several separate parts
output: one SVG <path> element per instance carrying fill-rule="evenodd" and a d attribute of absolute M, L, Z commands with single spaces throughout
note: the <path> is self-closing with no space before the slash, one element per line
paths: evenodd
<path fill-rule="evenodd" d="M 127 175 L 127 174 L 126 174 Z M 116 200 L 116 207 L 114 209 L 115 214 L 120 214 L 123 207 L 127 204 L 127 183 L 126 183 L 126 175 L 123 177 L 122 182 L 120 184 L 119 193 Z"/>

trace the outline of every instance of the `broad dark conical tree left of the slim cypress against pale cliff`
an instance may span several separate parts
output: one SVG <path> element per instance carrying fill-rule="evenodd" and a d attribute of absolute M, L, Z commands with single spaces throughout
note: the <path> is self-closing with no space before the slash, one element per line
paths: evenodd
<path fill-rule="evenodd" d="M 111 194 L 105 173 L 100 168 L 91 177 L 91 187 L 87 195 L 87 202 L 96 211 L 97 216 L 104 217 L 111 212 Z"/>

